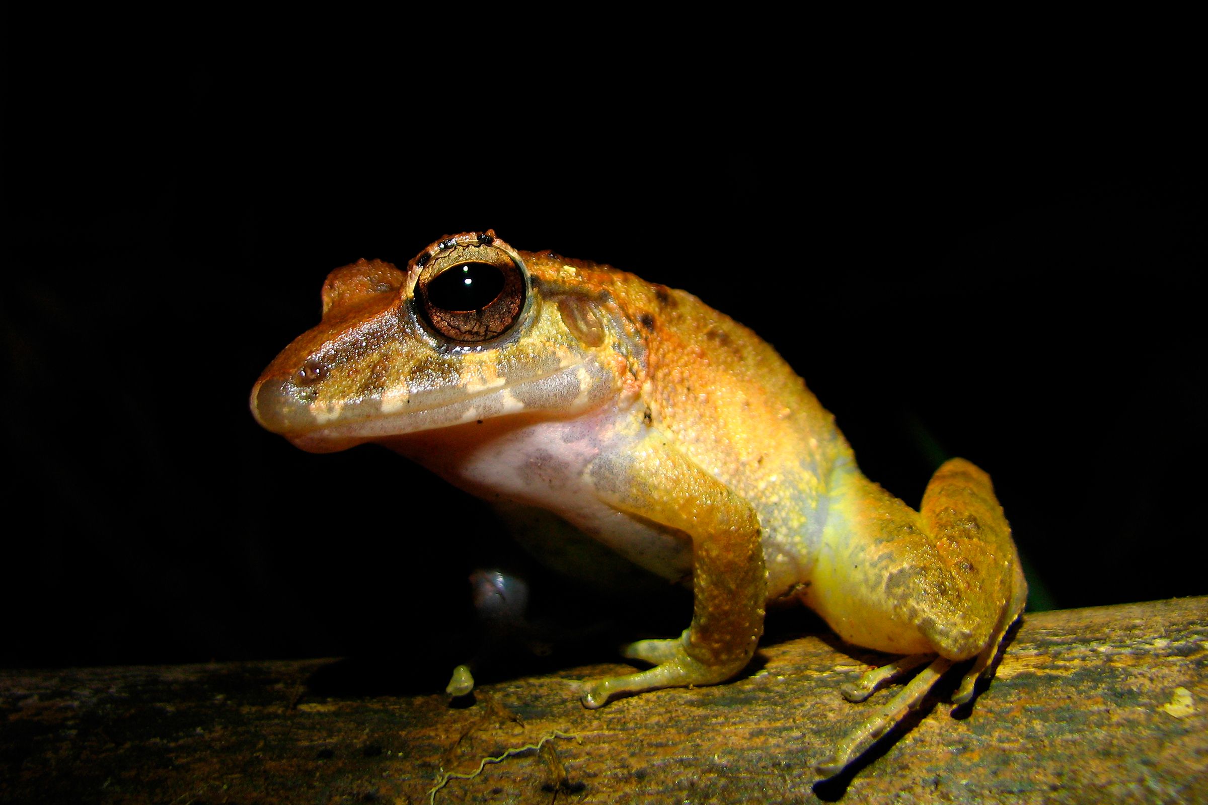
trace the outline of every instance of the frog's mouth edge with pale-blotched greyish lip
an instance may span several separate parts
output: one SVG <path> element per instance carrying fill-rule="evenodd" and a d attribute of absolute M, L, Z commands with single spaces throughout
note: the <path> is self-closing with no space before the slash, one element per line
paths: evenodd
<path fill-rule="evenodd" d="M 310 401 L 292 378 L 263 378 L 251 390 L 251 413 L 262 427 L 310 453 L 335 453 L 365 442 L 481 422 L 521 413 L 573 415 L 611 391 L 594 362 L 573 363 L 517 383 L 465 385 L 345 401 Z"/>

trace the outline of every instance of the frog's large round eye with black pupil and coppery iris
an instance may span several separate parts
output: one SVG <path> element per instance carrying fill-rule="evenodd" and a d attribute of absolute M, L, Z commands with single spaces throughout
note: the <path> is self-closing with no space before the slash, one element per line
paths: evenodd
<path fill-rule="evenodd" d="M 493 245 L 463 244 L 437 253 L 419 274 L 419 315 L 434 332 L 460 344 L 506 333 L 527 294 L 518 258 Z"/>

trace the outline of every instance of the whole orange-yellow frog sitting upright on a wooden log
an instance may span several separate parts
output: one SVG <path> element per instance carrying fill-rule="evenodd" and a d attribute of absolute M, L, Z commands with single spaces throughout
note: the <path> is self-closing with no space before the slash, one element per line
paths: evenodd
<path fill-rule="evenodd" d="M 898 657 L 842 686 L 850 701 L 922 667 L 817 764 L 834 776 L 954 664 L 969 663 L 952 701 L 970 701 L 1023 612 L 986 472 L 946 461 L 912 509 L 860 472 L 769 344 L 691 293 L 487 229 L 402 270 L 338 268 L 321 298 L 320 323 L 252 389 L 261 426 L 313 453 L 383 445 L 556 523 L 554 553 L 577 538 L 691 588 L 683 634 L 626 646 L 650 667 L 580 682 L 586 707 L 726 682 L 767 607 L 801 602 L 847 643 Z"/>

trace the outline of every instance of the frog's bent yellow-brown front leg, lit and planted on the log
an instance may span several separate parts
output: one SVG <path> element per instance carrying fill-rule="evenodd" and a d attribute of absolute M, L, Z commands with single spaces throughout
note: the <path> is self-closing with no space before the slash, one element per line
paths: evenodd
<path fill-rule="evenodd" d="M 582 683 L 583 705 L 599 707 L 620 693 L 714 684 L 741 671 L 763 634 L 767 577 L 755 511 L 657 433 L 600 456 L 588 473 L 603 502 L 692 541 L 693 611 L 680 637 L 623 649 L 655 667 Z"/>

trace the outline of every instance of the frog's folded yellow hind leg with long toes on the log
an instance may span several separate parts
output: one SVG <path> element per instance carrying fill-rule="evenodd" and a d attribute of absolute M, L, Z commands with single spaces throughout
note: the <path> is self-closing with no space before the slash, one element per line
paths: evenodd
<path fill-rule="evenodd" d="M 802 597 L 844 640 L 901 659 L 843 694 L 867 699 L 919 665 L 888 704 L 852 730 L 819 769 L 836 774 L 919 706 L 953 663 L 974 659 L 953 700 L 968 701 L 1015 619 L 1027 584 L 989 477 L 953 459 L 928 484 L 919 512 L 856 472 L 838 484 Z"/>

